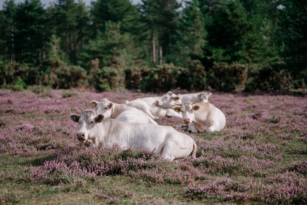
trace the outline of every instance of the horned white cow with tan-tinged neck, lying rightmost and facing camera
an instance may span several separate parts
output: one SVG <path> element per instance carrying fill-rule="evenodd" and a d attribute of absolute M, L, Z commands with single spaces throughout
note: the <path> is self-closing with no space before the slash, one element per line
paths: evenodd
<path fill-rule="evenodd" d="M 189 131 L 196 133 L 220 131 L 225 127 L 226 117 L 220 109 L 208 102 L 194 104 L 195 102 L 188 101 L 183 102 L 181 107 L 174 108 L 183 116 L 183 124 L 177 128 L 188 126 Z"/>

